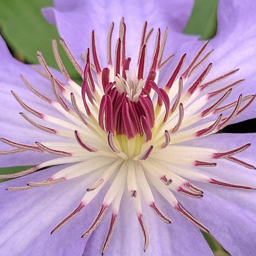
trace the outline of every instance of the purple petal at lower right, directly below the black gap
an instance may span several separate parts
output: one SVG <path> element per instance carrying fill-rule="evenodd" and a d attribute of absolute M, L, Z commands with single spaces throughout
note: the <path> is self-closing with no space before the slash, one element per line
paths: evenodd
<path fill-rule="evenodd" d="M 212 143 L 214 142 L 214 143 Z M 225 151 L 244 143 L 252 145 L 239 153 L 238 158 L 255 164 L 255 134 L 215 134 L 198 139 L 196 146 L 204 146 Z M 186 145 L 193 145 L 193 141 Z M 201 168 L 201 172 L 210 177 L 220 178 L 226 182 L 256 186 L 255 170 L 249 170 L 229 161 L 217 162 L 217 167 L 209 170 Z M 204 197 L 193 200 L 177 195 L 186 208 L 209 228 L 210 233 L 222 244 L 231 255 L 253 255 L 256 242 L 255 191 L 232 190 L 220 186 L 196 183 L 204 190 Z"/>

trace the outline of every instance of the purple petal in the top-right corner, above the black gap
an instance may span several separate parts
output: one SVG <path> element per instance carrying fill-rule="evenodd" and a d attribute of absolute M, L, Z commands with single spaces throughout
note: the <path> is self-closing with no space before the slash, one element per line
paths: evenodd
<path fill-rule="evenodd" d="M 256 38 L 255 6 L 250 1 L 220 1 L 218 7 L 218 33 L 210 42 L 214 48 L 212 62 L 214 66 L 209 78 L 219 76 L 239 68 L 239 71 L 221 84 L 228 81 L 245 79 L 233 88 L 230 102 L 238 99 L 239 94 L 255 94 Z M 227 102 L 228 103 L 228 102 Z M 256 103 L 252 104 L 234 122 L 256 117 Z"/>

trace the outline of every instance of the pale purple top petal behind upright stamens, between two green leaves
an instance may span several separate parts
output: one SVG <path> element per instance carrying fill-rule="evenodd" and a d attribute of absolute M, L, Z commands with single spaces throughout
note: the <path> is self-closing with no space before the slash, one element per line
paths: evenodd
<path fill-rule="evenodd" d="M 56 23 L 60 36 L 65 39 L 74 56 L 82 63 L 81 55 L 90 46 L 91 31 L 95 30 L 100 62 L 106 65 L 106 39 L 112 22 L 116 28 L 113 39 L 118 38 L 121 18 L 127 24 L 127 55 L 136 61 L 144 22 L 148 28 L 169 28 L 169 44 L 172 51 L 191 36 L 181 32 L 191 13 L 193 1 L 55 1 L 55 8 L 42 10 L 44 17 Z M 135 32 L 136 31 L 136 32 Z M 149 30 L 148 30 L 149 31 Z M 131 40 L 132 38 L 132 40 Z M 113 41 L 115 44 L 115 41 Z M 152 49 L 151 49 L 152 50 Z M 169 52 L 168 54 L 171 54 Z"/>

